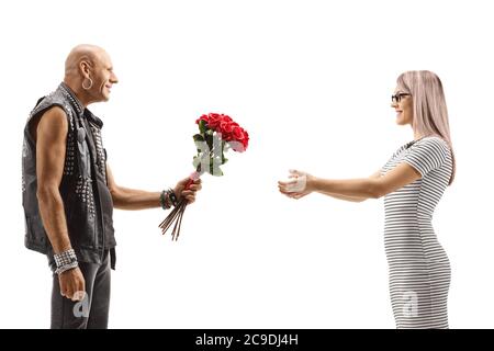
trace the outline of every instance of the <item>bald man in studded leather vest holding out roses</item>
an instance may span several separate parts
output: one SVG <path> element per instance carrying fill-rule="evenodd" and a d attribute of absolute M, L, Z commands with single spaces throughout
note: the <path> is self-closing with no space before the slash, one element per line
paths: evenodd
<path fill-rule="evenodd" d="M 113 207 L 168 210 L 181 199 L 194 202 L 201 189 L 200 180 L 186 189 L 188 178 L 161 192 L 115 183 L 103 122 L 88 105 L 108 101 L 117 82 L 104 49 L 78 45 L 66 59 L 64 81 L 37 101 L 24 129 L 25 246 L 48 257 L 52 328 L 108 328 Z"/>

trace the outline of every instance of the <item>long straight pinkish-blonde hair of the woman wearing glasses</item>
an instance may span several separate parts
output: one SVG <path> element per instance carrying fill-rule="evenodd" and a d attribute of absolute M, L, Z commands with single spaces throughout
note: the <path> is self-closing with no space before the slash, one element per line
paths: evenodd
<path fill-rule="evenodd" d="M 456 160 L 449 132 L 448 109 L 439 77 L 428 70 L 406 71 L 396 80 L 400 89 L 412 94 L 414 118 L 412 127 L 420 136 L 438 136 L 448 143 L 451 150 L 451 185 L 456 173 Z"/>

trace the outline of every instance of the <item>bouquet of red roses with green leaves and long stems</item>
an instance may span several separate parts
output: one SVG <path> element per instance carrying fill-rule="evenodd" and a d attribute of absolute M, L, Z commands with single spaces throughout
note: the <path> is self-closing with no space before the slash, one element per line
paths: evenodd
<path fill-rule="evenodd" d="M 195 121 L 195 124 L 199 126 L 199 133 L 193 136 L 198 149 L 198 155 L 194 156 L 192 162 L 195 172 L 190 176 L 190 181 L 187 186 L 194 180 L 198 180 L 204 172 L 216 177 L 223 176 L 220 167 L 228 161 L 225 158 L 225 152 L 228 149 L 244 152 L 249 145 L 249 134 L 247 131 L 225 114 L 204 114 Z M 187 201 L 182 199 L 159 225 L 162 234 L 166 234 L 175 223 L 173 230 L 171 231 L 172 240 L 177 240 L 180 235 L 180 226 L 186 208 Z"/>

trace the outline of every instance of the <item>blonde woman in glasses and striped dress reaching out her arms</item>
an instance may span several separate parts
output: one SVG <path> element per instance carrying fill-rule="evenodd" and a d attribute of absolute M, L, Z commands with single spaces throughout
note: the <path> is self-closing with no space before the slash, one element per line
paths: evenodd
<path fill-rule="evenodd" d="M 398 125 L 412 126 L 414 140 L 401 146 L 374 174 L 334 180 L 292 170 L 279 189 L 292 199 L 312 192 L 352 202 L 384 196 L 384 242 L 396 327 L 448 328 L 450 265 L 431 224 L 456 170 L 441 81 L 430 71 L 404 72 L 391 106 Z"/>

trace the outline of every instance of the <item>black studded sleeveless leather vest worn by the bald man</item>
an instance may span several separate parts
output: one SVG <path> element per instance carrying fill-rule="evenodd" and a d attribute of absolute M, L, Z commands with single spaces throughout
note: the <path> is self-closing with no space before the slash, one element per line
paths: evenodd
<path fill-rule="evenodd" d="M 40 215 L 36 196 L 36 143 L 30 132 L 30 122 L 53 106 L 65 111 L 69 126 L 59 192 L 71 246 L 81 262 L 101 263 L 104 250 L 110 250 L 114 268 L 116 242 L 113 203 L 106 186 L 106 152 L 101 138 L 103 123 L 82 107 L 64 82 L 53 93 L 38 100 L 24 128 L 22 204 L 25 214 L 25 247 L 46 253 L 54 268 L 53 248 Z"/>

